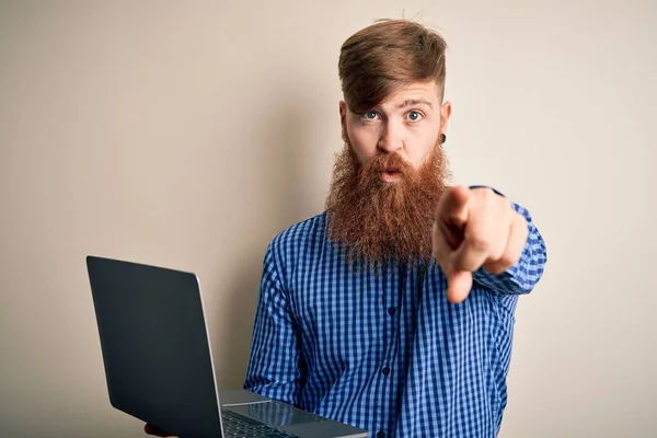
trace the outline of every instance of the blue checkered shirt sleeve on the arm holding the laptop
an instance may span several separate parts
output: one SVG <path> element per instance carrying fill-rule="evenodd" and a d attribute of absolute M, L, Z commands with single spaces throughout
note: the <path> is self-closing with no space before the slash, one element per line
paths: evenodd
<path fill-rule="evenodd" d="M 291 405 L 300 389 L 299 335 L 272 245 L 264 261 L 244 389 Z"/>

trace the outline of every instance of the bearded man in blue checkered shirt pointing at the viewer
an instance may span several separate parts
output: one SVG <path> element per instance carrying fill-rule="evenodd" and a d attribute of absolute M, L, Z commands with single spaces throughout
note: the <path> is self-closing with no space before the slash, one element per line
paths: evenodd
<path fill-rule="evenodd" d="M 546 261 L 529 212 L 449 187 L 446 43 L 381 21 L 343 45 L 326 211 L 269 244 L 244 388 L 372 437 L 494 437 L 514 312 Z"/>

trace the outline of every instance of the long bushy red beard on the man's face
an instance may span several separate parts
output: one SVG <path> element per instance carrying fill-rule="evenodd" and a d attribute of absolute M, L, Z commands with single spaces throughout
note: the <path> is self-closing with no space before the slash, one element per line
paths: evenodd
<path fill-rule="evenodd" d="M 400 171 L 400 180 L 381 181 L 387 169 Z M 378 154 L 361 165 L 345 145 L 326 199 L 330 239 L 351 263 L 427 262 L 435 210 L 448 176 L 440 143 L 418 170 L 395 153 Z"/>

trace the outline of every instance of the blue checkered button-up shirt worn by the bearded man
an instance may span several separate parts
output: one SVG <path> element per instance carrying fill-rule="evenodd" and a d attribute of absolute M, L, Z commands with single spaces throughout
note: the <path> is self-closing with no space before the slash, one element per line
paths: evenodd
<path fill-rule="evenodd" d="M 543 274 L 529 212 L 520 261 L 474 273 L 460 304 L 440 267 L 397 264 L 354 274 L 327 239 L 326 212 L 267 247 L 244 388 L 371 437 L 495 437 L 518 296 Z"/>

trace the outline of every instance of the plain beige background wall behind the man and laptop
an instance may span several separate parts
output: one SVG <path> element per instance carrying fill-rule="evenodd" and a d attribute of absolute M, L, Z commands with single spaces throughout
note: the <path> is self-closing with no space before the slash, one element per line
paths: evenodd
<path fill-rule="evenodd" d="M 454 181 L 533 214 L 503 437 L 657 435 L 653 1 L 0 2 L 0 436 L 140 437 L 110 407 L 84 256 L 191 269 L 243 377 L 263 251 L 321 211 L 342 42 L 450 44 Z"/>

